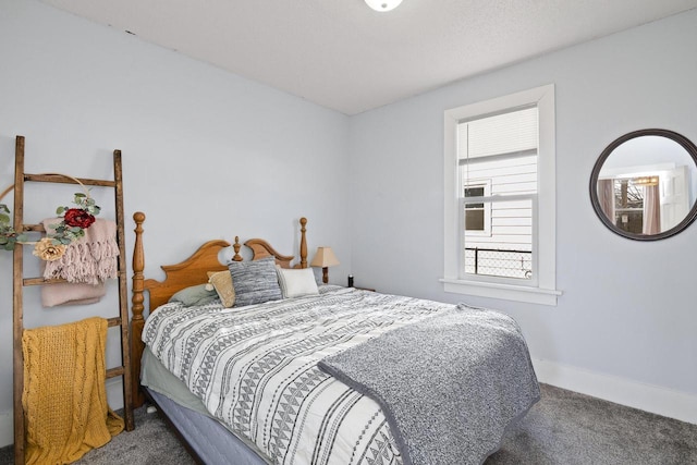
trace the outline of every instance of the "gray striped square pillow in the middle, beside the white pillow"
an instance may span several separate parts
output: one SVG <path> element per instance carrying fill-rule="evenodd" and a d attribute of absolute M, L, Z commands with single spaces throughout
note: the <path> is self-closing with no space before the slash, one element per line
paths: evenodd
<path fill-rule="evenodd" d="M 281 286 L 276 274 L 276 258 L 228 264 L 235 289 L 235 307 L 280 301 Z"/>

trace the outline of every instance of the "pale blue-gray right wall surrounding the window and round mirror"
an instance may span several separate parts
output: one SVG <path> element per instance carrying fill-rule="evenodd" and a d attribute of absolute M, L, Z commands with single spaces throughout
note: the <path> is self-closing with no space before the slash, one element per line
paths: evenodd
<path fill-rule="evenodd" d="M 697 142 L 695 57 L 692 11 L 352 118 L 356 285 L 505 310 L 543 380 L 697 423 L 697 224 L 659 242 L 620 237 L 588 187 L 597 157 L 624 133 L 663 127 Z M 443 111 L 550 83 L 558 306 L 444 293 Z M 657 396 L 668 406 L 651 405 Z"/>

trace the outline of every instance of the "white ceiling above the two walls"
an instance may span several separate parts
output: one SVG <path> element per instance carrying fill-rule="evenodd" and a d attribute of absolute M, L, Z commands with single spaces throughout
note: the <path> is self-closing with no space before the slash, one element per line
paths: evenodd
<path fill-rule="evenodd" d="M 697 8 L 697 0 L 41 0 L 345 114 Z"/>

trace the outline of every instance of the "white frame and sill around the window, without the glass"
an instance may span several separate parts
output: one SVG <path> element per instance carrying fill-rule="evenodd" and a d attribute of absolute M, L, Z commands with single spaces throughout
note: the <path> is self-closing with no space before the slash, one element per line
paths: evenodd
<path fill-rule="evenodd" d="M 538 189 L 534 221 L 537 234 L 533 247 L 537 250 L 537 280 L 526 284 L 501 282 L 461 276 L 463 260 L 460 182 L 457 159 L 457 124 L 493 113 L 535 105 L 539 118 Z M 536 87 L 516 94 L 447 110 L 444 113 L 444 274 L 440 280 L 445 292 L 482 297 L 503 298 L 542 305 L 557 305 L 557 168 L 554 127 L 554 85 Z"/>

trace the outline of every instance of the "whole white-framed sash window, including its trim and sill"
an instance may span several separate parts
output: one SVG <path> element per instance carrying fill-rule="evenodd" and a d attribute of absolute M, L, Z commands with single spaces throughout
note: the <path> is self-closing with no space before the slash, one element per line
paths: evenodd
<path fill-rule="evenodd" d="M 445 112 L 447 292 L 557 305 L 554 87 Z"/>

